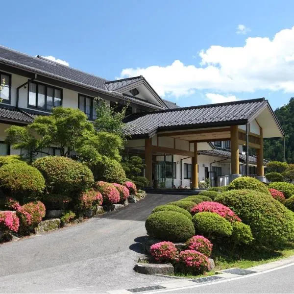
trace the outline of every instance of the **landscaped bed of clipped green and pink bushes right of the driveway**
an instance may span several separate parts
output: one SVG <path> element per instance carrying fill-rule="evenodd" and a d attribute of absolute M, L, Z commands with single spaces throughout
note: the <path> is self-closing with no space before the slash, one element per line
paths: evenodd
<path fill-rule="evenodd" d="M 155 207 L 145 223 L 144 262 L 195 276 L 293 255 L 293 199 L 292 183 L 240 177 L 225 188 Z"/>

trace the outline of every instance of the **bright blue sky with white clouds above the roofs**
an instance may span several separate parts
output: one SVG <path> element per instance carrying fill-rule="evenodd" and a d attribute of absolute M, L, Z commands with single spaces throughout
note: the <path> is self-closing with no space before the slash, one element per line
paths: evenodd
<path fill-rule="evenodd" d="M 180 106 L 265 97 L 276 108 L 294 96 L 294 1 L 11 0 L 4 10 L 1 45 L 111 80 L 143 74 Z"/>

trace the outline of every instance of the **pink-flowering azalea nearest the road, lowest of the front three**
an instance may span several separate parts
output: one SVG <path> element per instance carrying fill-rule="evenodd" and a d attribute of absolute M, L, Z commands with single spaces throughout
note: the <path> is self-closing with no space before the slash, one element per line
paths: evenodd
<path fill-rule="evenodd" d="M 183 273 L 197 275 L 210 270 L 208 257 L 196 250 L 181 251 L 175 261 L 175 269 Z"/>

